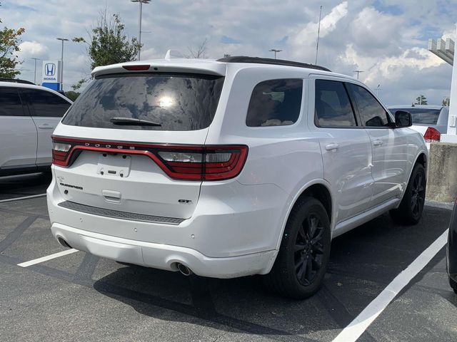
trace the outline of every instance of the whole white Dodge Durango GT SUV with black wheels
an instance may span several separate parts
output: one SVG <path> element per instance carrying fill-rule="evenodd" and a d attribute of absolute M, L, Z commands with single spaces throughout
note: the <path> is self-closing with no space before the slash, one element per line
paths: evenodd
<path fill-rule="evenodd" d="M 263 58 L 94 69 L 54 132 L 52 233 L 183 274 L 317 291 L 331 239 L 421 217 L 427 149 L 362 83 Z"/>

